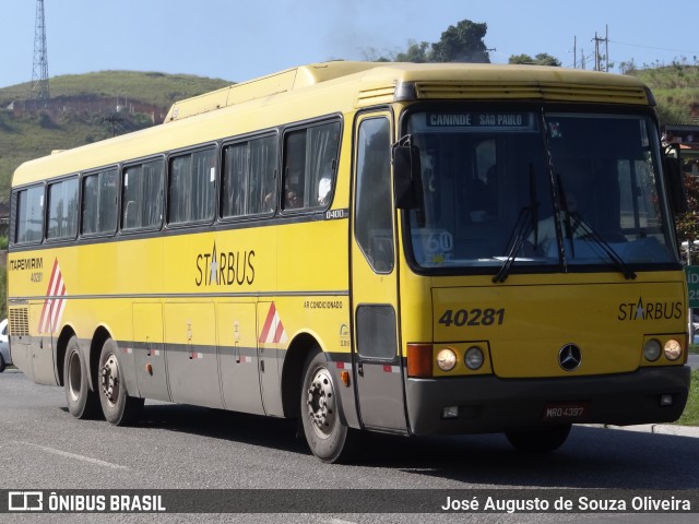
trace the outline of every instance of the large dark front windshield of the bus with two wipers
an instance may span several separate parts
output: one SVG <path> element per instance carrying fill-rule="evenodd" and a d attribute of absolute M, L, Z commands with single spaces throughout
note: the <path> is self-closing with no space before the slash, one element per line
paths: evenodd
<path fill-rule="evenodd" d="M 410 258 L 428 271 L 676 263 L 654 129 L 644 115 L 413 112 Z"/>

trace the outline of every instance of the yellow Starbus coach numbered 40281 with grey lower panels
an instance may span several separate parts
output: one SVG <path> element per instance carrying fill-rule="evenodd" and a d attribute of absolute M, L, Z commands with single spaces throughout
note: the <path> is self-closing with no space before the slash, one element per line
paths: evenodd
<path fill-rule="evenodd" d="M 12 358 L 78 418 L 144 398 L 363 431 L 672 421 L 683 192 L 629 76 L 330 62 L 20 166 Z"/>

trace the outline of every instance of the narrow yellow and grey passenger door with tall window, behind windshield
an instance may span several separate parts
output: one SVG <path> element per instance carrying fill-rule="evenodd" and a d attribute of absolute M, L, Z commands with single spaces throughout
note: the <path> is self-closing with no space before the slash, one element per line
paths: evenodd
<path fill-rule="evenodd" d="M 367 428 L 405 432 L 398 343 L 391 116 L 380 112 L 360 117 L 354 142 L 351 290 L 359 416 Z"/>

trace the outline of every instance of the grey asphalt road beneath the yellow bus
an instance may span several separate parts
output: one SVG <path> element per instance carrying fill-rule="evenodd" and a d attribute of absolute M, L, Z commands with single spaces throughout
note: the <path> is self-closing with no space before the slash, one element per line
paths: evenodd
<path fill-rule="evenodd" d="M 139 426 L 76 420 L 63 391 L 29 382 L 16 370 L 0 376 L 2 489 L 286 489 L 323 497 L 324 489 L 602 488 L 699 490 L 699 439 L 574 427 L 556 453 L 511 450 L 502 436 L 406 439 L 378 436 L 356 465 L 325 465 L 295 438 L 293 421 L 146 403 Z M 331 491 L 329 491 L 331 492 Z M 541 492 L 541 491 L 533 491 Z M 602 491 L 604 492 L 604 491 Z M 261 491 L 264 497 L 268 491 Z M 331 492 L 336 496 L 336 492 Z M 12 514 L 2 522 L 694 523 L 697 514 Z M 4 501 L 0 501 L 4 504 Z"/>

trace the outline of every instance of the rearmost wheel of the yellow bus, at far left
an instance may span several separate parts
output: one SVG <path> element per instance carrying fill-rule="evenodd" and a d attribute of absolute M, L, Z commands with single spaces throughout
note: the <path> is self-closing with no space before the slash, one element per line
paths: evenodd
<path fill-rule="evenodd" d="M 95 418 L 99 414 L 97 394 L 90 389 L 87 365 L 80 352 L 78 337 L 71 336 L 63 359 L 63 389 L 70 414 L 80 419 Z"/>

